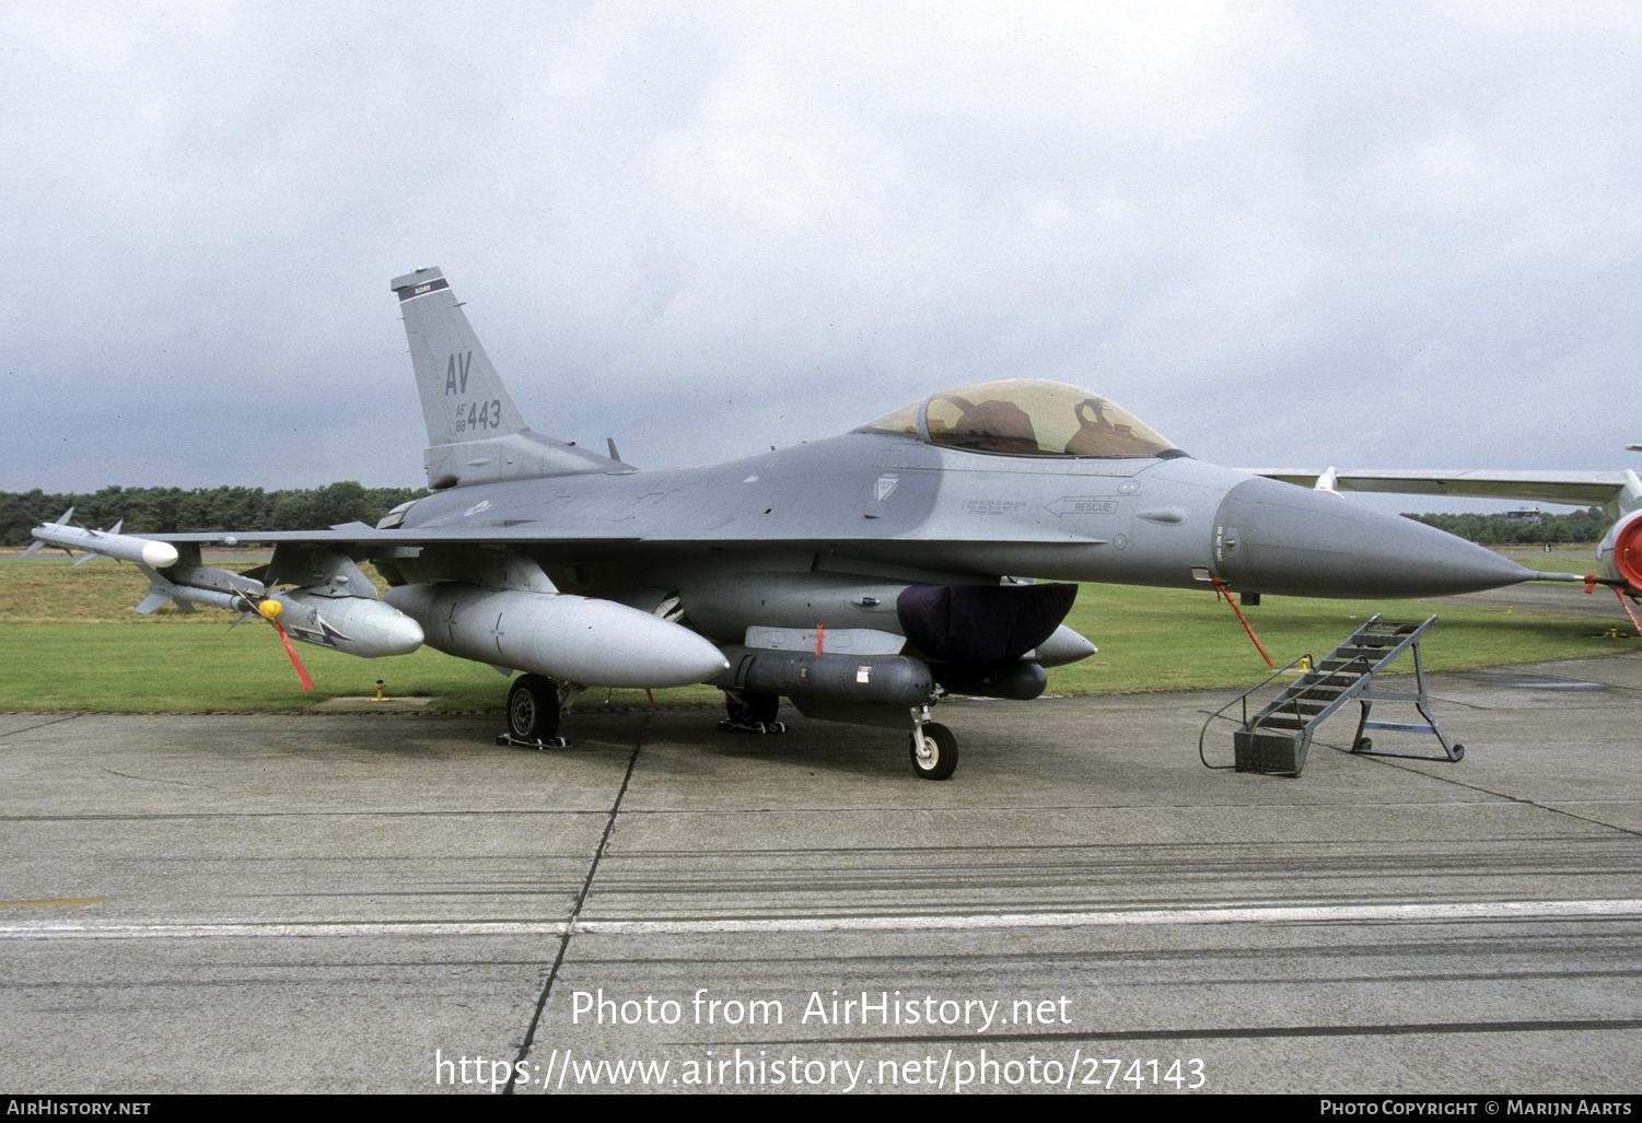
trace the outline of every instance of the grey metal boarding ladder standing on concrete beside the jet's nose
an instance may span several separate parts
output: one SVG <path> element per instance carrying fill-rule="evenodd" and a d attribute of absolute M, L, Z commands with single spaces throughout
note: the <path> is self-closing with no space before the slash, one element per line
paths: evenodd
<path fill-rule="evenodd" d="M 1243 691 L 1204 722 L 1204 732 L 1197 737 L 1199 755 L 1202 755 L 1204 736 L 1210 722 L 1225 717 L 1233 706 L 1243 706 L 1238 729 L 1232 734 L 1232 745 L 1238 772 L 1263 772 L 1268 775 L 1300 775 L 1305 765 L 1305 750 L 1310 749 L 1317 727 L 1328 721 L 1346 703 L 1360 703 L 1361 717 L 1356 722 L 1356 734 L 1351 737 L 1351 752 L 1379 757 L 1414 757 L 1419 760 L 1460 760 L 1465 757 L 1465 745 L 1448 742 L 1442 726 L 1430 711 L 1430 698 L 1425 693 L 1425 668 L 1420 663 L 1420 637 L 1437 622 L 1432 616 L 1424 624 L 1399 624 L 1383 621 L 1374 616 L 1368 624 L 1351 632 L 1351 635 L 1333 649 L 1322 662 L 1314 663 L 1309 655 L 1294 660 L 1284 670 L 1266 678 L 1263 683 Z M 1415 691 L 1376 690 L 1374 678 L 1394 663 L 1404 652 L 1414 650 L 1414 683 Z M 1282 686 L 1271 701 L 1259 706 L 1253 716 L 1248 714 L 1250 698 L 1258 696 L 1263 688 L 1276 678 L 1300 665 L 1299 678 Z M 1414 703 L 1425 717 L 1424 724 L 1397 721 L 1369 721 L 1369 708 L 1376 701 Z M 1233 717 L 1232 721 L 1238 721 Z M 1363 734 L 1368 731 L 1394 731 L 1432 734 L 1442 744 L 1443 755 L 1430 757 L 1409 752 L 1376 752 L 1373 742 Z M 1207 759 L 1204 763 L 1209 763 Z M 1210 765 L 1217 767 L 1217 765 Z M 1225 765 L 1218 765 L 1225 767 Z"/>

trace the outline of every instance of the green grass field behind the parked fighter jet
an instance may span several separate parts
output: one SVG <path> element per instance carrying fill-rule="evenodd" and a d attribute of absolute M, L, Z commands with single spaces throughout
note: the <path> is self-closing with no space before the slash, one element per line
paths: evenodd
<path fill-rule="evenodd" d="M 256 555 L 213 558 L 248 568 Z M 1540 570 L 1583 573 L 1589 553 L 1524 553 Z M 135 566 L 95 560 L 74 566 L 51 555 L 0 557 L 0 709 L 266 711 L 300 709 L 338 696 L 371 696 L 376 680 L 397 696 L 432 696 L 433 709 L 501 709 L 506 680 L 488 667 L 430 649 L 388 660 L 360 660 L 299 644 L 315 690 L 304 691 L 273 629 L 200 609 L 163 609 L 141 617 L 131 606 L 146 591 Z M 1264 598 L 1245 609 L 1281 667 L 1322 655 L 1356 622 L 1440 616 L 1422 653 L 1432 670 L 1494 667 L 1642 650 L 1608 635 L 1608 624 L 1573 616 L 1430 606 L 1414 601 L 1307 601 Z M 1100 653 L 1049 672 L 1053 693 L 1102 693 L 1246 686 L 1266 663 L 1225 603 L 1207 591 L 1085 584 L 1067 624 Z M 686 686 L 655 691 L 660 704 L 718 704 L 719 691 Z M 581 706 L 644 704 L 644 691 L 591 690 Z"/>

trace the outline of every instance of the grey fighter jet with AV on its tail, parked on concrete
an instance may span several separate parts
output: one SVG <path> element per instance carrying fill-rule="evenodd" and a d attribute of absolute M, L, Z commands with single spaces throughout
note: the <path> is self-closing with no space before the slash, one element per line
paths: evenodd
<path fill-rule="evenodd" d="M 957 760 L 929 721 L 944 694 L 1036 698 L 1044 668 L 1094 653 L 1062 624 L 1069 581 L 1406 598 L 1535 576 L 1409 519 L 1194 460 L 1108 397 L 1039 379 L 944 391 L 727 465 L 640 471 L 614 443 L 601 456 L 532 432 L 438 269 L 392 291 L 432 496 L 378 527 L 245 535 L 274 545 L 250 576 L 200 562 L 235 535 L 140 539 L 64 517 L 34 537 L 136 562 L 138 611 L 238 607 L 356 655 L 425 642 L 524 672 L 507 694 L 524 742 L 553 739 L 581 688 L 704 681 L 726 691 L 727 729 L 778 731 L 785 696 L 806 716 L 908 731 L 929 780 Z"/>

